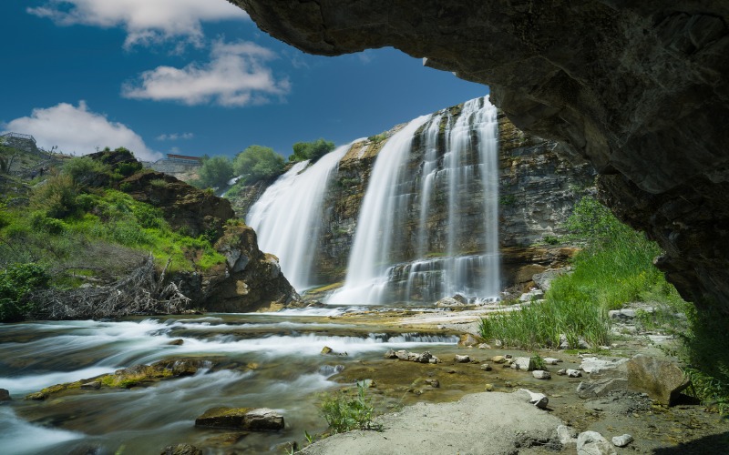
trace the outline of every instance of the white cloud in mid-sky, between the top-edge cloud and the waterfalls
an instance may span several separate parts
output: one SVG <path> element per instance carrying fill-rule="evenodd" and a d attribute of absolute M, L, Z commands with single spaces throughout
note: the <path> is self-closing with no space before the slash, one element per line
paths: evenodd
<path fill-rule="evenodd" d="M 271 96 L 282 97 L 291 89 L 287 78 L 276 79 L 271 68 L 264 65 L 276 57 L 271 50 L 253 43 L 216 41 L 209 63 L 192 63 L 183 68 L 158 66 L 139 75 L 138 81 L 122 86 L 122 96 L 179 101 L 189 106 L 264 104 Z"/>

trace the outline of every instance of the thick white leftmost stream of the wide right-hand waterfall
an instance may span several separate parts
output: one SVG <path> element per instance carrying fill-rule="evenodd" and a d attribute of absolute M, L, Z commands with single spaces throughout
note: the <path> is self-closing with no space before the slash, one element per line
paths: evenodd
<path fill-rule="evenodd" d="M 401 180 L 413 136 L 429 118 L 419 116 L 412 120 L 390 137 L 377 155 L 359 213 L 344 287 L 335 292 L 327 303 L 352 305 L 381 301 L 387 284 L 383 272 L 389 265 L 394 222 L 399 214 L 397 206 L 404 202 L 403 195 L 397 192 L 397 184 Z"/>

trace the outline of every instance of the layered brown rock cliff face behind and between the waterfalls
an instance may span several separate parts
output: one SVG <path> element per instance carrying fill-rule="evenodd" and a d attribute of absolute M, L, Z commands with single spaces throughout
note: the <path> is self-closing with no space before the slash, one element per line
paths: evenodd
<path fill-rule="evenodd" d="M 451 124 L 456 122 L 460 109 L 461 106 L 454 106 L 440 114 L 442 122 L 436 134 L 436 150 L 431 152 L 440 163 L 438 166 L 447 159 L 446 124 L 448 121 Z M 389 138 L 402 127 L 395 126 L 385 134 L 355 143 L 332 172 L 319 215 L 323 227 L 318 244 L 313 248 L 313 282 L 325 284 L 344 280 L 375 159 Z M 408 202 L 401 206 L 402 210 L 395 218 L 397 240 L 393 242 L 389 255 L 391 264 L 396 264 L 390 277 L 391 286 L 395 289 L 407 286 L 408 270 L 418 255 L 434 261 L 428 267 L 442 267 L 437 259 L 447 257 L 447 232 L 450 228 L 457 230 L 454 246 L 457 255 L 477 255 L 486 249 L 486 223 L 481 209 L 484 193 L 479 178 L 460 183 L 457 188 L 458 222 L 449 227 L 449 203 L 452 200 L 448 197 L 447 171 L 441 171 L 441 177 L 436 177 L 432 186 L 432 193 L 426 197 L 429 205 L 425 232 L 419 232 L 424 200 L 421 192 L 422 167 L 427 153 L 422 137 L 418 131 L 403 165 L 406 177 L 401 178 L 397 185 L 399 194 L 407 197 Z M 584 189 L 593 186 L 594 171 L 585 163 L 570 164 L 557 153 L 559 148 L 560 145 L 554 141 L 523 133 L 506 116 L 498 115 L 498 238 L 502 253 L 502 287 L 528 288 L 533 274 L 564 265 L 574 252 L 572 248 L 549 246 L 549 239 L 565 233 L 561 225 L 584 194 Z M 476 149 L 469 148 L 463 159 L 464 171 L 480 166 Z M 261 186 L 242 188 L 240 200 L 233 197 L 233 206 L 250 207 L 251 195 L 258 194 L 260 197 L 264 189 Z M 245 216 L 241 211 L 238 214 Z M 419 239 L 425 239 L 425 244 L 419 245 Z M 476 274 L 486 273 L 485 270 L 477 270 L 477 262 L 470 264 L 469 268 L 476 268 Z M 427 288 L 437 295 L 438 289 L 434 286 L 437 287 L 437 283 Z M 409 298 L 416 300 L 432 300 L 430 297 L 417 292 L 409 294 Z"/>

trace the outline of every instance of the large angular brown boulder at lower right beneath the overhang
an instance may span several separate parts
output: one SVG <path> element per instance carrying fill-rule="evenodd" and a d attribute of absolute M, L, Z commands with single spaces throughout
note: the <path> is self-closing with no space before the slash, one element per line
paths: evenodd
<path fill-rule="evenodd" d="M 691 381 L 675 363 L 639 354 L 628 361 L 628 388 L 672 406 Z"/>

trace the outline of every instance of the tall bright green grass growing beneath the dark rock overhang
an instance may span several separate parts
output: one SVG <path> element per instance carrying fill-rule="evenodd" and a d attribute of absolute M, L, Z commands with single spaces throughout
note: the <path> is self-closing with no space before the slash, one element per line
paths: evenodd
<path fill-rule="evenodd" d="M 610 344 L 610 309 L 638 301 L 685 305 L 652 264 L 661 249 L 594 198 L 580 201 L 568 227 L 568 238 L 584 246 L 572 260 L 572 273 L 552 281 L 545 302 L 483 319 L 485 339 L 526 349 L 556 348 L 563 334 L 571 347 L 583 339 L 598 348 Z"/>

